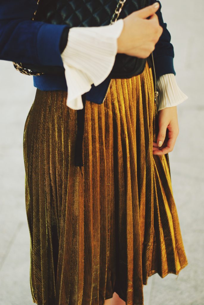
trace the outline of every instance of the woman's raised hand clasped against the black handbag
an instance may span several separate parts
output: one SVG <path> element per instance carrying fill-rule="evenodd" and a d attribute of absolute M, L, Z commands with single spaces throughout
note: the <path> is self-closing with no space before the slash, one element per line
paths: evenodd
<path fill-rule="evenodd" d="M 163 32 L 155 14 L 158 8 L 159 3 L 156 2 L 123 19 L 123 29 L 117 40 L 118 53 L 139 58 L 147 58 L 151 54 Z"/>

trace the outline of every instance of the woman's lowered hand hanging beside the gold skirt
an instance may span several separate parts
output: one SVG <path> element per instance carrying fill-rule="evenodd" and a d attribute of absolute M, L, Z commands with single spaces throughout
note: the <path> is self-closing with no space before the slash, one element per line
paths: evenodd
<path fill-rule="evenodd" d="M 159 132 L 157 143 L 153 142 L 153 154 L 161 156 L 173 150 L 178 137 L 177 106 L 161 109 L 158 112 L 158 125 Z"/>

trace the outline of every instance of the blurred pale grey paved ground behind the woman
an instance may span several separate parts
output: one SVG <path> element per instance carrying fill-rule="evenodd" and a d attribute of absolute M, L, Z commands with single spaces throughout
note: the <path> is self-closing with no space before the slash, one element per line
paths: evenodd
<path fill-rule="evenodd" d="M 176 80 L 188 96 L 177 107 L 180 131 L 169 153 L 188 266 L 178 277 L 149 277 L 144 305 L 204 305 L 204 2 L 160 2 L 174 45 Z M 33 78 L 17 72 L 11 62 L 0 61 L 0 71 L 0 304 L 31 305 L 23 129 L 36 88 Z"/>

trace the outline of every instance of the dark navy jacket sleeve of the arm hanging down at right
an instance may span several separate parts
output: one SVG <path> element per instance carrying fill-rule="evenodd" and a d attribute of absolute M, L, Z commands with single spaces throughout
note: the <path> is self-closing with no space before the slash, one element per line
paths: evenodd
<path fill-rule="evenodd" d="M 150 4 L 156 2 L 155 0 L 151 0 Z M 160 8 L 157 10 L 156 14 L 159 19 L 160 26 L 163 28 L 163 32 L 155 45 L 155 49 L 153 50 L 154 56 L 154 64 L 155 64 L 155 72 L 156 77 L 159 78 L 161 75 L 173 73 L 176 75 L 174 70 L 174 47 L 171 44 L 171 34 L 167 30 L 167 23 L 164 23 L 162 13 L 161 13 L 161 3 Z"/>

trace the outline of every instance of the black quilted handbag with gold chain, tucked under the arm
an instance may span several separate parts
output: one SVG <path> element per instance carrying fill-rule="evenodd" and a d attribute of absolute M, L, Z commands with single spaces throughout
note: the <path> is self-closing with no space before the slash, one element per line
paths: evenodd
<path fill-rule="evenodd" d="M 149 0 L 38 0 L 37 3 L 38 8 L 32 20 L 67 24 L 69 27 L 92 27 L 114 23 L 118 17 L 125 18 L 149 5 Z M 62 74 L 65 71 L 63 66 L 13 64 L 17 70 L 27 75 Z M 139 75 L 145 64 L 146 59 L 117 53 L 109 77 L 130 78 Z"/>

